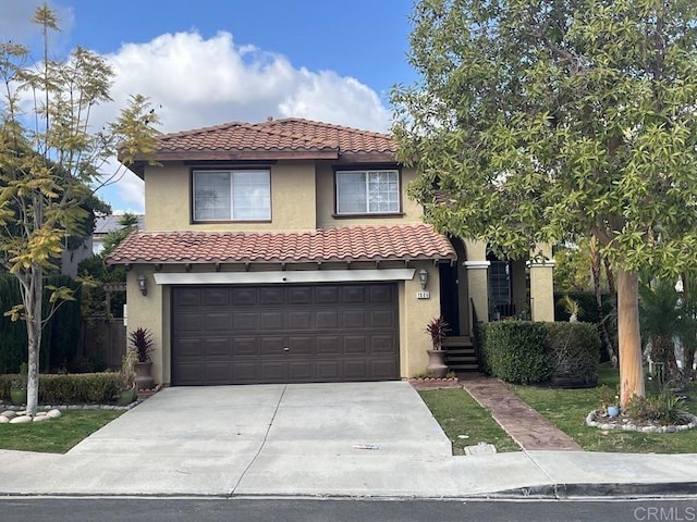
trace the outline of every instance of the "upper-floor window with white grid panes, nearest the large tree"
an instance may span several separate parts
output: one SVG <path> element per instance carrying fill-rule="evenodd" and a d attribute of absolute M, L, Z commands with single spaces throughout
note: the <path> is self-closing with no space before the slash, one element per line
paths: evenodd
<path fill-rule="evenodd" d="M 338 214 L 400 212 L 399 171 L 338 171 Z"/>

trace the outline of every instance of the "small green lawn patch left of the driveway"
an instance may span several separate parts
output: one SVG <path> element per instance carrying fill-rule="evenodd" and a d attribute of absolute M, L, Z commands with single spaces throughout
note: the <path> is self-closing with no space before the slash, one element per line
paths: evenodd
<path fill-rule="evenodd" d="M 64 453 L 124 410 L 65 410 L 58 419 L 0 424 L 0 449 Z"/>

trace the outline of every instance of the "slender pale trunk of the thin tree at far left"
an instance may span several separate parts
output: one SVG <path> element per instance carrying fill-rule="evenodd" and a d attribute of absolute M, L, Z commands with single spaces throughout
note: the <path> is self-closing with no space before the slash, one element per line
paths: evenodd
<path fill-rule="evenodd" d="M 39 399 L 39 352 L 41 349 L 41 315 L 44 273 L 34 268 L 29 274 L 29 285 L 26 288 L 24 306 L 26 308 L 26 335 L 28 351 L 28 374 L 26 386 L 26 411 L 30 417 L 36 415 Z"/>

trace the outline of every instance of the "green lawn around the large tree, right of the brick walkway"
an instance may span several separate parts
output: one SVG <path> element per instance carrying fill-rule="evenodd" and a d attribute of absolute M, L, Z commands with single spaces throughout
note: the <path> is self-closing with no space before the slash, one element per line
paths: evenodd
<path fill-rule="evenodd" d="M 612 389 L 619 375 L 612 368 L 603 366 L 600 382 Z M 554 389 L 535 386 L 510 386 L 511 390 L 587 451 L 620 451 L 639 453 L 693 453 L 697 452 L 697 430 L 681 433 L 636 433 L 604 431 L 585 425 L 588 412 L 599 407 L 598 390 Z M 685 394 L 690 400 L 683 408 L 697 414 L 697 387 Z"/>

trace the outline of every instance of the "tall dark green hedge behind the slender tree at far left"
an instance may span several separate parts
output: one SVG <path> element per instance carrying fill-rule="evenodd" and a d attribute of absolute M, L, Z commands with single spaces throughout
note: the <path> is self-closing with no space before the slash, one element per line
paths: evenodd
<path fill-rule="evenodd" d="M 73 289 L 75 301 L 62 303 L 48 321 L 41 333 L 39 368 L 59 368 L 64 361 L 74 359 L 80 345 L 82 315 L 80 311 L 81 285 L 65 275 L 44 278 L 44 285 L 68 286 Z M 0 311 L 5 312 L 22 302 L 16 277 L 0 274 Z M 44 293 L 44 312 L 50 310 L 49 291 Z M 20 371 L 27 360 L 26 325 L 24 321 L 12 321 L 0 313 L 0 373 Z"/>

